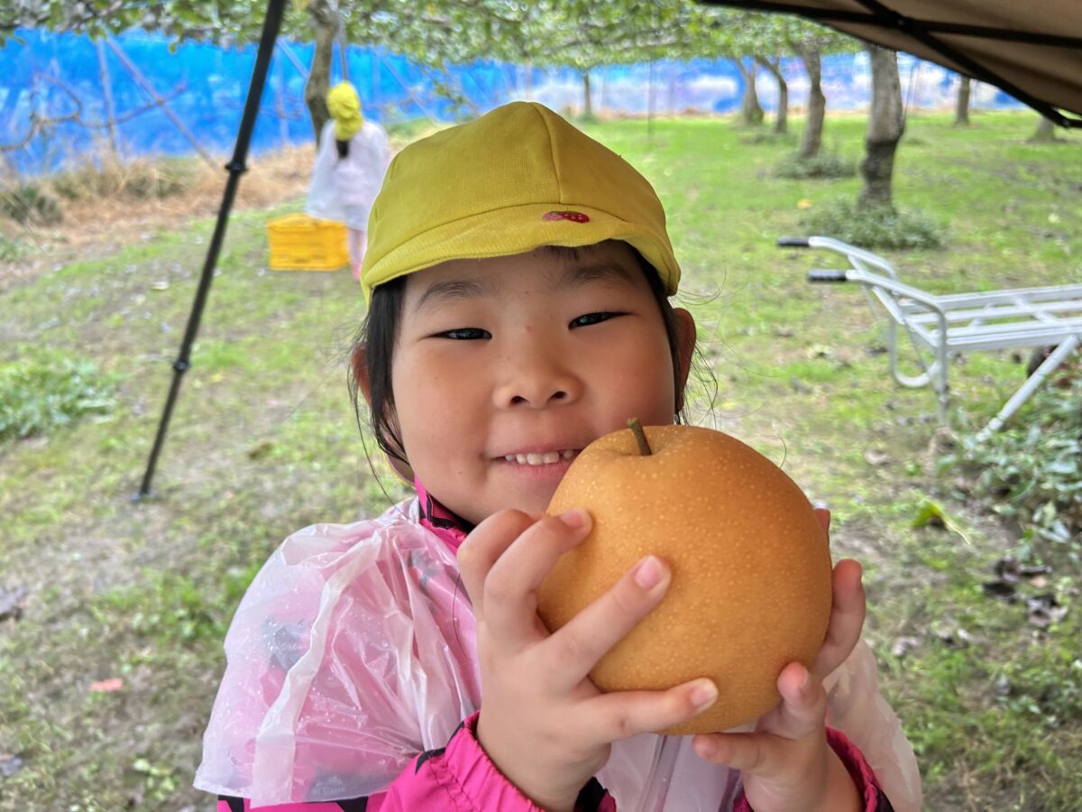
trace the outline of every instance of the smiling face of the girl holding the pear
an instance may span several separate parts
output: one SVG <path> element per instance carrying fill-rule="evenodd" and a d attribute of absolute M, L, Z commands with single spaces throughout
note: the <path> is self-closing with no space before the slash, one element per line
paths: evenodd
<path fill-rule="evenodd" d="M 690 358 L 694 323 L 676 314 L 678 357 Z M 591 441 L 631 417 L 671 423 L 675 410 L 658 303 L 618 241 L 411 274 L 393 358 L 406 458 L 473 524 L 505 508 L 544 510 Z"/>

